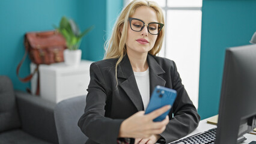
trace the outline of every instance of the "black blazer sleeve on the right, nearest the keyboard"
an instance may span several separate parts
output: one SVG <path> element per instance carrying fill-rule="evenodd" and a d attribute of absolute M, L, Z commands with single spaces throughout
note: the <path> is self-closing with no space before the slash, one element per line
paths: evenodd
<path fill-rule="evenodd" d="M 181 83 L 180 75 L 174 62 L 173 64 L 174 67 L 171 68 L 172 89 L 177 91 L 177 98 L 172 106 L 174 117 L 172 118 L 172 113 L 169 114 L 169 118 L 171 118 L 169 124 L 166 125 L 165 131 L 160 134 L 166 140 L 166 143 L 191 133 L 197 128 L 200 121 L 197 109 Z"/>

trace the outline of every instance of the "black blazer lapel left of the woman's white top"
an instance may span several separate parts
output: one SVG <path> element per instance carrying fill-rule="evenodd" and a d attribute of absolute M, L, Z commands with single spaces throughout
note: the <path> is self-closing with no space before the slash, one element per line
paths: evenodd
<path fill-rule="evenodd" d="M 117 77 L 118 79 L 126 79 L 121 82 L 119 85 L 120 87 L 126 92 L 132 103 L 135 107 L 139 110 L 143 110 L 143 102 L 141 98 L 141 94 L 139 92 L 135 76 L 133 74 L 132 65 L 130 65 L 130 61 L 128 56 L 124 56 L 123 60 L 120 62 L 117 70 Z"/>

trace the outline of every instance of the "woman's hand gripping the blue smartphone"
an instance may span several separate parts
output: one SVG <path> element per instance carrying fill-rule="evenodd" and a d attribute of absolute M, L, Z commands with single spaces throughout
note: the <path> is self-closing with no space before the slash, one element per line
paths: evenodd
<path fill-rule="evenodd" d="M 162 115 L 169 109 L 171 109 L 171 106 L 168 105 L 154 110 L 147 115 L 144 115 L 144 111 L 135 113 L 122 122 L 118 137 L 144 139 L 150 137 L 152 134 L 162 133 L 169 122 L 169 116 L 167 115 L 166 118 L 160 122 L 153 122 L 153 119 Z"/>

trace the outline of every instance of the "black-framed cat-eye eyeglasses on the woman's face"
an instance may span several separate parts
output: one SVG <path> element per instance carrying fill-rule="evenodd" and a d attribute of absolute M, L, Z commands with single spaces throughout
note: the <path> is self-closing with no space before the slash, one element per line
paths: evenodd
<path fill-rule="evenodd" d="M 142 20 L 129 17 L 130 28 L 133 31 L 139 32 L 147 25 L 148 32 L 152 35 L 158 35 L 161 29 L 163 28 L 163 23 L 151 22 L 145 24 Z"/>

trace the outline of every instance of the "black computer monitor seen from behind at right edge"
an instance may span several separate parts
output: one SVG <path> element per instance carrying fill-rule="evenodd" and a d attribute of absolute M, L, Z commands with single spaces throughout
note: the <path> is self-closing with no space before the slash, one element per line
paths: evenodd
<path fill-rule="evenodd" d="M 236 143 L 256 127 L 256 44 L 226 50 L 215 143 Z"/>

